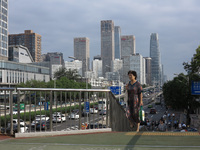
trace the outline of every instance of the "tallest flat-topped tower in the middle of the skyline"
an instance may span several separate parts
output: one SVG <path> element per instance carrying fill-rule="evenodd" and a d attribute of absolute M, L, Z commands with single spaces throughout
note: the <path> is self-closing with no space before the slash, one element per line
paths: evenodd
<path fill-rule="evenodd" d="M 104 77 L 106 72 L 110 72 L 111 62 L 114 57 L 114 22 L 112 20 L 103 20 L 101 21 L 101 58 Z"/>

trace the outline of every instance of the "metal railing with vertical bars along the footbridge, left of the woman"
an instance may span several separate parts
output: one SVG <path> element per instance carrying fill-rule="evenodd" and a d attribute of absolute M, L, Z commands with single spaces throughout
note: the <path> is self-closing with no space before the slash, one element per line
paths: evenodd
<path fill-rule="evenodd" d="M 108 89 L 6 88 L 0 90 L 4 90 L 5 93 L 10 91 L 9 99 L 6 100 L 5 94 L 3 100 L 4 108 L 6 108 L 5 103 L 9 102 L 10 109 L 4 109 L 4 116 L 0 112 L 0 117 L 4 118 L 3 123 L 0 121 L 3 134 L 94 128 L 111 128 L 113 131 L 128 129 L 125 111 Z M 14 91 L 17 92 L 17 101 L 13 103 Z M 85 107 L 88 104 L 90 107 Z"/>

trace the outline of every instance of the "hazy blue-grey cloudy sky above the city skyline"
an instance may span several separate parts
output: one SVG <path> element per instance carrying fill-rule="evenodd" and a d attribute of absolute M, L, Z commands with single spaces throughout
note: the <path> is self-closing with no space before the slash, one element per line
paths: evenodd
<path fill-rule="evenodd" d="M 122 35 L 134 35 L 136 53 L 150 55 L 150 35 L 158 33 L 164 74 L 186 73 L 200 45 L 199 0 L 9 0 L 9 33 L 33 30 L 42 36 L 42 54 L 73 56 L 75 37 L 90 39 L 90 60 L 101 54 L 101 20 L 113 20 Z"/>

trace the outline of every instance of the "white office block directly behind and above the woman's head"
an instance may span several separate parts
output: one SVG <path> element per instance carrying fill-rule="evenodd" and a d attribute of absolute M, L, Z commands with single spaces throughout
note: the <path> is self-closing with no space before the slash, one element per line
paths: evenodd
<path fill-rule="evenodd" d="M 145 59 L 142 55 L 136 53 L 135 55 L 130 56 L 130 70 L 137 72 L 137 80 L 141 84 L 146 84 L 145 77 Z M 126 78 L 126 83 L 129 81 L 128 77 Z"/>

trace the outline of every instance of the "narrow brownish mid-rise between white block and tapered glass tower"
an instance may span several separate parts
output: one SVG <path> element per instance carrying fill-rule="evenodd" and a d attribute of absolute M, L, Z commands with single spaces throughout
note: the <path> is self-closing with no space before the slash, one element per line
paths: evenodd
<path fill-rule="evenodd" d="M 146 84 L 152 85 L 151 83 L 151 57 L 144 57 L 145 59 L 145 67 L 146 67 Z"/>

